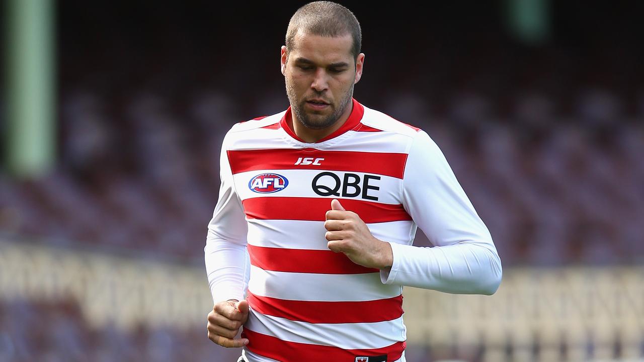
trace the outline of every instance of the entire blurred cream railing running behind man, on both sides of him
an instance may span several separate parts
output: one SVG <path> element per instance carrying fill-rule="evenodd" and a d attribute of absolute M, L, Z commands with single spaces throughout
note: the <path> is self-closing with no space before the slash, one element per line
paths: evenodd
<path fill-rule="evenodd" d="M 95 327 L 193 328 L 212 308 L 203 267 L 0 242 L 0 300 L 73 298 Z M 641 361 L 644 268 L 506 268 L 493 296 L 407 287 L 408 343 L 497 361 Z M 562 350 L 564 352 L 562 352 Z"/>

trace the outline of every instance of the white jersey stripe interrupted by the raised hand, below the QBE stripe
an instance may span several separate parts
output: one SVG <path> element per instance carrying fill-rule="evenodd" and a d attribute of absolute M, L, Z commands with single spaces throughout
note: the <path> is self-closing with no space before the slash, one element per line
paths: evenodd
<path fill-rule="evenodd" d="M 367 224 L 369 231 L 379 240 L 411 245 L 410 220 Z M 299 220 L 248 220 L 248 243 L 260 247 L 285 249 L 328 250 L 321 221 Z"/>

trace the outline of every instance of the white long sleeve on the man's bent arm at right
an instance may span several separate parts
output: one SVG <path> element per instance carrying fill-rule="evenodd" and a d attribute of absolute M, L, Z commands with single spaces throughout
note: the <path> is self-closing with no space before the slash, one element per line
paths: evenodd
<path fill-rule="evenodd" d="M 413 140 L 403 177 L 403 205 L 434 247 L 391 243 L 386 284 L 455 294 L 493 294 L 502 268 L 488 228 L 439 147 L 424 131 Z"/>

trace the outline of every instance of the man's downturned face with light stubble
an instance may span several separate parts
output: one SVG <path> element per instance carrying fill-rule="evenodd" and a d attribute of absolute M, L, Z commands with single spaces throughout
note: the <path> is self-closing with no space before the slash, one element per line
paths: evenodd
<path fill-rule="evenodd" d="M 364 54 L 354 59 L 352 37 L 298 33 L 296 46 L 281 50 L 281 70 L 291 110 L 303 126 L 324 129 L 351 111 L 354 84 L 362 76 Z"/>

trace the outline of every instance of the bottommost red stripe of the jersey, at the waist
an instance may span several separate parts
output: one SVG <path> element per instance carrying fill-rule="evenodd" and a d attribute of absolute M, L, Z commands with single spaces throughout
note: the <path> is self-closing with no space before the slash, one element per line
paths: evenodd
<path fill-rule="evenodd" d="M 368 336 L 364 337 L 368 338 Z M 249 339 L 249 344 L 246 347 L 251 352 L 280 362 L 353 362 L 356 356 L 381 356 L 383 354 L 387 355 L 387 362 L 393 362 L 403 355 L 403 350 L 406 346 L 405 342 L 396 342 L 383 348 L 345 350 L 338 347 L 282 341 L 279 338 L 253 332 L 249 329 L 244 329 L 242 338 Z"/>

